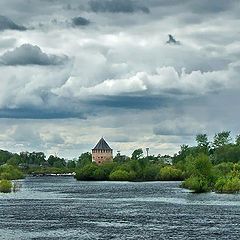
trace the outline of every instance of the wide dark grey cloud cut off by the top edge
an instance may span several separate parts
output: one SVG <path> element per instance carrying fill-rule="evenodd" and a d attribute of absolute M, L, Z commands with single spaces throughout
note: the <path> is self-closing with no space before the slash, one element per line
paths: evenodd
<path fill-rule="evenodd" d="M 94 12 L 111 12 L 111 13 L 133 13 L 141 11 L 149 13 L 149 8 L 139 5 L 131 0 L 92 0 L 89 5 Z"/>

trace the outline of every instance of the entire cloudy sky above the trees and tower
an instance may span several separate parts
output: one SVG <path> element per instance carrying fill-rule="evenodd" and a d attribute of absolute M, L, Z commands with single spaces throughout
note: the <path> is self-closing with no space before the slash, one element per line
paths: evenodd
<path fill-rule="evenodd" d="M 115 153 L 164 155 L 199 133 L 239 134 L 238 0 L 0 9 L 0 149 L 71 159 L 103 136 Z"/>

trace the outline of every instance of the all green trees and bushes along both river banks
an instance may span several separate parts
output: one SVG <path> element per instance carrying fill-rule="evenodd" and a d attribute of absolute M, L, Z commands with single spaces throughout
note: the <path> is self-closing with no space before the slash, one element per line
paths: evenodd
<path fill-rule="evenodd" d="M 181 181 L 180 186 L 196 193 L 240 192 L 240 135 L 229 131 L 196 136 L 196 145 L 182 145 L 174 156 L 143 156 L 141 148 L 130 157 L 117 154 L 111 163 L 97 165 L 89 152 L 65 160 L 42 152 L 20 154 L 0 150 L 0 192 L 11 192 L 11 180 L 28 174 L 72 174 L 81 181 Z"/>

